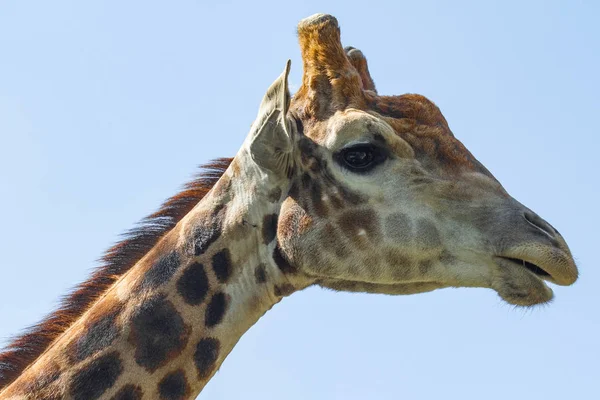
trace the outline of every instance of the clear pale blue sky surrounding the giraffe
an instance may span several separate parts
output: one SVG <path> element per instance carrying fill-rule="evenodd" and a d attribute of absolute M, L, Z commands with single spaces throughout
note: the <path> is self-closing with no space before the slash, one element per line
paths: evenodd
<path fill-rule="evenodd" d="M 218 3 L 218 4 L 217 4 Z M 0 343 L 85 279 L 118 234 L 233 156 L 335 15 L 382 94 L 421 93 L 581 276 L 547 307 L 491 290 L 311 288 L 240 341 L 201 399 L 600 398 L 600 2 L 3 1 Z"/>

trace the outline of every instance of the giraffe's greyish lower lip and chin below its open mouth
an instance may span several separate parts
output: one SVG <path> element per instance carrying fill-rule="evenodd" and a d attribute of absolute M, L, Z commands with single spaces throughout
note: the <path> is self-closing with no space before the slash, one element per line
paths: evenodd
<path fill-rule="evenodd" d="M 552 301 L 554 293 L 544 279 L 509 259 L 497 259 L 492 289 L 507 303 L 530 307 Z"/>

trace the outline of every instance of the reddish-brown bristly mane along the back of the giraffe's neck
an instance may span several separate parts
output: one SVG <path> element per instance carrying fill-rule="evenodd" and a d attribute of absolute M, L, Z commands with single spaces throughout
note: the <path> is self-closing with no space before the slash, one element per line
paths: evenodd
<path fill-rule="evenodd" d="M 122 234 L 109 248 L 90 278 L 64 296 L 58 308 L 27 328 L 0 352 L 0 390 L 12 383 L 52 342 L 65 332 L 120 276 L 131 269 L 210 191 L 231 163 L 219 158 L 200 166 L 183 190 L 167 199 L 158 211 Z"/>

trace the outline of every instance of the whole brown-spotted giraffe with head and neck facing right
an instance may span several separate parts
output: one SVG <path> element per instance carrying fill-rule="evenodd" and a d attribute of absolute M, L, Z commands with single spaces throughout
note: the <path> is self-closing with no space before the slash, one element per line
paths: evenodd
<path fill-rule="evenodd" d="M 380 96 L 337 20 L 298 24 L 233 159 L 109 249 L 61 307 L 0 354 L 0 399 L 191 399 L 240 337 L 311 285 L 414 294 L 484 287 L 510 304 L 570 285 L 563 237 L 512 198 L 415 94 Z"/>

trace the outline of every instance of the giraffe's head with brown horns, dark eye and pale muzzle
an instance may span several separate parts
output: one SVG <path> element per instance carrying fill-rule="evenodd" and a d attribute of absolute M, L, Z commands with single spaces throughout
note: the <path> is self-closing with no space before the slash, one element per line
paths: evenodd
<path fill-rule="evenodd" d="M 552 299 L 546 282 L 575 282 L 562 236 L 506 192 L 435 104 L 379 96 L 334 17 L 309 17 L 298 35 L 302 86 L 290 102 L 288 63 L 263 102 L 277 128 L 251 146 L 290 184 L 276 259 L 336 290 L 484 287 L 525 306 Z"/>

